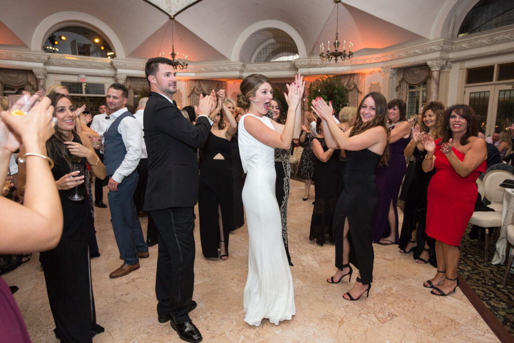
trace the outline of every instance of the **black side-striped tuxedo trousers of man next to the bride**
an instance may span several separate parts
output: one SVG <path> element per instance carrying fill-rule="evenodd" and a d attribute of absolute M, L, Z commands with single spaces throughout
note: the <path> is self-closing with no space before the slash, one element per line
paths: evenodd
<path fill-rule="evenodd" d="M 195 243 L 193 207 L 150 211 L 159 231 L 155 294 L 159 316 L 170 314 L 176 323 L 189 320 L 193 299 Z"/>

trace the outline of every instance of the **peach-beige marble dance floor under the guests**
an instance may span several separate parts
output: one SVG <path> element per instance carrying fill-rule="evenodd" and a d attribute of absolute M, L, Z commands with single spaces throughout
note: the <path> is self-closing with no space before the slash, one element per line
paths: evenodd
<path fill-rule="evenodd" d="M 106 187 L 105 187 L 106 190 Z M 459 288 L 448 297 L 435 297 L 421 283 L 435 270 L 416 264 L 412 255 L 399 254 L 394 245 L 374 244 L 374 282 L 369 298 L 346 301 L 347 278 L 329 284 L 335 272 L 334 245 L 319 246 L 308 240 L 314 186 L 302 201 L 303 183 L 291 181 L 289 197 L 289 250 L 295 285 L 297 314 L 278 326 L 263 320 L 260 327 L 243 321 L 243 289 L 247 276 L 248 233 L 246 226 L 230 235 L 227 261 L 205 259 L 195 229 L 196 260 L 193 299 L 198 307 L 190 313 L 204 341 L 498 341 Z M 104 197 L 104 201 L 106 200 Z M 365 206 L 365 204 L 362 204 Z M 180 341 L 169 323 L 157 321 L 154 293 L 157 246 L 141 268 L 118 279 L 109 273 L 120 266 L 108 209 L 96 210 L 101 257 L 91 260 L 97 321 L 105 332 L 94 342 Z M 197 209 L 195 209 L 196 213 Z M 197 215 L 198 217 L 198 215 Z M 141 218 L 143 230 L 146 218 Z M 198 222 L 196 222 L 198 228 Z M 20 290 L 14 295 L 34 342 L 54 342 L 53 319 L 46 296 L 38 254 L 2 276 Z M 352 277 L 355 281 L 356 273 Z"/>

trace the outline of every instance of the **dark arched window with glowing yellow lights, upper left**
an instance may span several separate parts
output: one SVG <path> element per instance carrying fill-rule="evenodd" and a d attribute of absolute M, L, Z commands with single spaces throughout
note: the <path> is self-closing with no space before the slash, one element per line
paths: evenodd
<path fill-rule="evenodd" d="M 78 56 L 116 57 L 111 45 L 100 34 L 78 26 L 64 27 L 50 34 L 43 51 Z"/>

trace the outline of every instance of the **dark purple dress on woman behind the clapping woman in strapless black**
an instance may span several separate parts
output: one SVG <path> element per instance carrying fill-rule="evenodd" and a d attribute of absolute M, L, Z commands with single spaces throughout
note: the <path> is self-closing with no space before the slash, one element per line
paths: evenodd
<path fill-rule="evenodd" d="M 391 130 L 394 129 L 393 125 Z M 407 163 L 403 150 L 409 144 L 409 138 L 400 138 L 389 146 L 388 165 L 377 168 L 375 183 L 378 188 L 378 204 L 375 210 L 375 219 L 373 221 L 373 242 L 377 243 L 383 237 L 389 237 L 391 228 L 389 227 L 388 214 L 391 202 L 393 202 L 394 217 L 396 225 L 395 244 L 398 244 L 398 210 L 396 202 L 398 201 L 398 193 L 400 191 L 401 180 L 407 170 Z"/>

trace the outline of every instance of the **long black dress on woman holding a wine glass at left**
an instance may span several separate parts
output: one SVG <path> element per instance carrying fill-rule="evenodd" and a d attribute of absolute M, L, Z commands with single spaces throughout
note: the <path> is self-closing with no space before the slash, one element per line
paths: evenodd
<path fill-rule="evenodd" d="M 73 141 L 82 143 L 77 135 Z M 50 155 L 54 156 L 51 152 Z M 70 165 L 65 158 L 54 158 L 54 163 L 52 174 L 55 180 L 70 172 Z M 87 168 L 85 158 L 72 164 L 80 164 L 84 170 Z M 90 342 L 95 333 L 103 332 L 104 329 L 96 323 L 91 287 L 88 242 L 93 219 L 85 183 L 78 186 L 78 193 L 84 199 L 72 202 L 69 196 L 75 194 L 75 187 L 59 191 L 63 209 L 63 233 L 57 247 L 41 252 L 40 262 L 56 324 L 56 337 L 62 341 Z"/>

